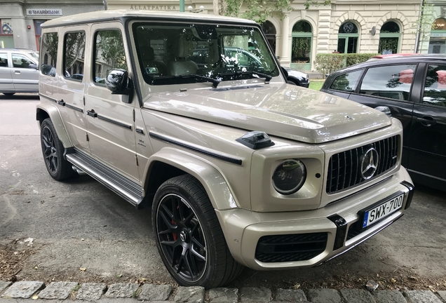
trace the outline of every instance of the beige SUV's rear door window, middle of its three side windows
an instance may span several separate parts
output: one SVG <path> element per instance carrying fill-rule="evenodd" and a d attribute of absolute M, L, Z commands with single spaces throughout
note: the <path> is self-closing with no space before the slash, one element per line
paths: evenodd
<path fill-rule="evenodd" d="M 84 56 L 85 32 L 70 32 L 65 34 L 63 68 L 65 78 L 82 81 Z"/>

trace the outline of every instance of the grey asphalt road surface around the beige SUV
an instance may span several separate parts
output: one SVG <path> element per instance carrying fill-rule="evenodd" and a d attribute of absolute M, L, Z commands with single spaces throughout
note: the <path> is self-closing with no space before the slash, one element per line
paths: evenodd
<path fill-rule="evenodd" d="M 173 282 L 158 257 L 149 210 L 135 210 L 88 176 L 57 182 L 48 175 L 35 121 L 38 103 L 36 95 L 0 95 L 0 244 L 18 253 L 32 250 L 17 278 Z M 246 269 L 232 285 L 330 287 L 405 276 L 440 279 L 445 285 L 437 287 L 445 289 L 445 217 L 446 192 L 417 186 L 405 216 L 344 255 L 316 268 Z"/>

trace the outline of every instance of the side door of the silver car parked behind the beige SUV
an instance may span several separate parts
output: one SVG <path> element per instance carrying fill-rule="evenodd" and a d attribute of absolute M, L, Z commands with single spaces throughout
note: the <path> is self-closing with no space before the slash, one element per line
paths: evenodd
<path fill-rule="evenodd" d="M 21 53 L 11 53 L 13 83 L 18 91 L 39 91 L 39 70 L 36 62 Z"/>

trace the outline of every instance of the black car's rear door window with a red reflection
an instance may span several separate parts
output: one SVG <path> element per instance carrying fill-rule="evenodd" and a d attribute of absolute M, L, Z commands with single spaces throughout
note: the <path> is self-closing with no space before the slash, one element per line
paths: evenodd
<path fill-rule="evenodd" d="M 417 65 L 373 67 L 365 73 L 360 93 L 396 100 L 409 100 Z"/>

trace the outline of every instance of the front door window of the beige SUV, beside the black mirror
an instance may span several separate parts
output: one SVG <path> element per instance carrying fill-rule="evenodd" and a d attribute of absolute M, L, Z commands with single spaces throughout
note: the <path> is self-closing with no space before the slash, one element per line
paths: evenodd
<path fill-rule="evenodd" d="M 118 29 L 97 32 L 94 50 L 93 81 L 98 85 L 105 85 L 111 69 L 128 70 L 122 34 Z"/>

